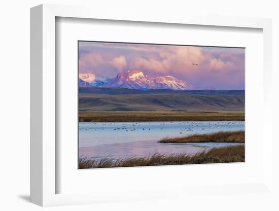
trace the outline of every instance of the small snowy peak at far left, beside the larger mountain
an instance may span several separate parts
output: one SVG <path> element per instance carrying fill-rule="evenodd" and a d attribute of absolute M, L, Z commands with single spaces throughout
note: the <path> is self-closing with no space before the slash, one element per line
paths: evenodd
<path fill-rule="evenodd" d="M 95 74 L 91 73 L 81 73 L 79 74 L 79 80 L 88 83 L 88 86 L 92 87 L 103 87 L 108 83 L 111 78 L 96 76 Z M 80 87 L 87 87 L 87 84 L 84 86 L 82 82 L 80 82 L 82 86 Z"/>

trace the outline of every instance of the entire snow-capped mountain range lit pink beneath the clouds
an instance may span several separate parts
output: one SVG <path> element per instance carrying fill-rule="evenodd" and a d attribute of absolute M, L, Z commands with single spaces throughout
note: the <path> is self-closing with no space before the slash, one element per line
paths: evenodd
<path fill-rule="evenodd" d="M 96 77 L 93 74 L 80 74 L 80 79 L 90 83 L 92 87 L 117 87 L 129 89 L 173 89 L 192 90 L 194 86 L 186 81 L 176 79 L 172 76 L 151 77 L 141 71 L 128 71 L 120 73 L 115 78 L 108 79 Z"/>

